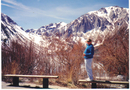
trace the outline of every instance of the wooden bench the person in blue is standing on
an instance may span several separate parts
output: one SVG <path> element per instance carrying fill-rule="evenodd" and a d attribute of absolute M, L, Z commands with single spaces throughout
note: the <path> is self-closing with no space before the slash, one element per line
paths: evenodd
<path fill-rule="evenodd" d="M 126 84 L 127 88 L 129 88 L 129 82 L 128 81 L 87 81 L 87 80 L 79 80 L 79 83 L 92 83 L 91 88 L 97 88 L 96 83 L 104 83 L 104 84 Z"/>

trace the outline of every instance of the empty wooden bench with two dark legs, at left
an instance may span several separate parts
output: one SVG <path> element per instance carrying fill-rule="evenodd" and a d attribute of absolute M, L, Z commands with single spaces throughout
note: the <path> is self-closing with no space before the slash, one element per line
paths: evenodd
<path fill-rule="evenodd" d="M 13 78 L 13 85 L 19 86 L 19 77 L 25 78 L 43 78 L 43 88 L 48 88 L 49 85 L 49 78 L 58 78 L 58 76 L 53 75 L 17 75 L 17 74 L 6 74 L 4 77 L 12 77 Z"/>

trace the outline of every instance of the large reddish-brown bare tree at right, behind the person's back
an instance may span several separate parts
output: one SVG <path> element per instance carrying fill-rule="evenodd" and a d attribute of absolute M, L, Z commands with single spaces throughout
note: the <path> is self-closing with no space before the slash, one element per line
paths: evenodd
<path fill-rule="evenodd" d="M 107 35 L 98 48 L 99 61 L 110 75 L 129 76 L 129 30 L 125 24 Z"/>

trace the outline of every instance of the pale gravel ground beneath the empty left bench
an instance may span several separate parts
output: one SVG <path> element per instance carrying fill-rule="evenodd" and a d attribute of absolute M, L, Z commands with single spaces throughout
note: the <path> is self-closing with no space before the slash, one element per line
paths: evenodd
<path fill-rule="evenodd" d="M 34 84 L 34 83 L 19 83 L 19 86 L 11 86 L 11 83 L 6 83 L 2 81 L 2 89 L 38 89 L 42 88 L 42 85 Z M 49 85 L 51 89 L 69 89 L 66 87 L 60 87 L 56 85 Z"/>

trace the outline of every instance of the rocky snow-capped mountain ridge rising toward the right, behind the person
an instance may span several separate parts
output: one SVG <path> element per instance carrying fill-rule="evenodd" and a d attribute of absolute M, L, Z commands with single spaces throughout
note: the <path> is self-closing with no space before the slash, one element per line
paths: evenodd
<path fill-rule="evenodd" d="M 102 43 L 103 38 L 115 27 L 120 27 L 123 23 L 129 24 L 129 9 L 118 6 L 101 8 L 98 11 L 88 12 L 68 24 L 55 23 L 42 26 L 37 30 L 26 30 L 26 32 L 39 35 L 59 35 L 63 38 L 82 37 L 92 38 L 94 44 Z M 102 40 L 97 40 L 98 38 Z"/>

